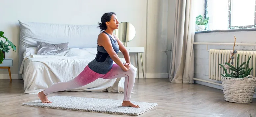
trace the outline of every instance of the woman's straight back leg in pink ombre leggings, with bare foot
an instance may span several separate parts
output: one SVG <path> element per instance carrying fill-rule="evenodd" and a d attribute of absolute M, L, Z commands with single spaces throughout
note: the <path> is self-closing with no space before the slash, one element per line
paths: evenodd
<path fill-rule="evenodd" d="M 101 78 L 104 74 L 99 74 L 92 71 L 88 66 L 84 68 L 84 70 L 74 79 L 67 82 L 58 82 L 53 84 L 52 86 L 46 88 L 45 90 L 38 93 L 39 99 L 42 103 L 51 103 L 47 99 L 47 95 L 53 92 L 64 91 L 68 89 L 79 88 L 84 85 L 87 85 L 98 78 Z"/>

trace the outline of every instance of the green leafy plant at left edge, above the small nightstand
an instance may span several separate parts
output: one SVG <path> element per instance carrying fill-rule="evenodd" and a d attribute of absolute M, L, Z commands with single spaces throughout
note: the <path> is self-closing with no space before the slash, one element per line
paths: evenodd
<path fill-rule="evenodd" d="M 3 42 L 3 40 L 0 42 L 0 64 L 2 64 L 3 60 L 5 59 L 5 53 L 9 52 L 9 46 L 13 49 L 13 51 L 16 52 L 16 46 L 4 36 L 3 31 L 0 31 L 0 38 L 1 37 L 4 38 L 5 42 Z M 6 42 L 8 42 L 8 44 L 6 44 Z"/>

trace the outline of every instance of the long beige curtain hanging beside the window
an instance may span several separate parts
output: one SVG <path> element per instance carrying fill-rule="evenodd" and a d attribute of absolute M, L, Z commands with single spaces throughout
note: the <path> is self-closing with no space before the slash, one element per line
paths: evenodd
<path fill-rule="evenodd" d="M 194 0 L 176 0 L 175 29 L 172 44 L 169 81 L 194 83 L 194 51 L 196 14 Z"/>

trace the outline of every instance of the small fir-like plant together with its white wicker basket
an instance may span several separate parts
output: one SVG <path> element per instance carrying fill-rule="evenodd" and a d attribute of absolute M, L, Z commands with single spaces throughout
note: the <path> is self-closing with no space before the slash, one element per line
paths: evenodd
<path fill-rule="evenodd" d="M 239 65 L 240 55 L 237 54 L 237 64 L 233 66 L 233 62 L 230 63 L 231 59 L 234 59 L 234 55 L 237 53 L 235 48 L 235 42 L 233 50 L 230 52 L 231 57 L 228 62 L 224 65 L 219 64 L 225 74 L 221 74 L 222 88 L 224 93 L 224 98 L 226 101 L 235 102 L 235 103 L 250 103 L 252 102 L 254 91 L 256 88 L 256 77 L 253 77 L 251 74 L 252 68 L 248 68 L 249 61 L 251 56 L 248 58 L 247 62 L 243 62 Z M 245 67 L 243 67 L 246 64 Z M 228 73 L 227 70 L 231 70 L 231 73 Z M 252 77 L 252 78 L 248 78 Z"/>

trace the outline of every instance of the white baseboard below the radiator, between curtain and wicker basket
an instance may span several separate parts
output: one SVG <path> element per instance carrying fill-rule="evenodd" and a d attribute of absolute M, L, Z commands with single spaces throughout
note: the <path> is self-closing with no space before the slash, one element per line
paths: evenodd
<path fill-rule="evenodd" d="M 220 83 L 210 82 L 210 81 L 202 80 L 202 79 L 198 79 L 198 78 L 194 78 L 194 80 L 195 80 L 196 84 L 201 84 L 201 85 L 204 85 L 204 86 L 209 86 L 209 87 L 212 87 L 212 88 L 223 90 L 222 89 L 222 84 L 220 84 Z M 254 92 L 253 98 L 256 98 L 256 92 Z"/>

